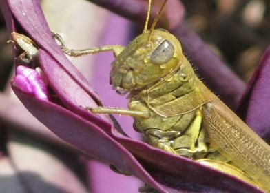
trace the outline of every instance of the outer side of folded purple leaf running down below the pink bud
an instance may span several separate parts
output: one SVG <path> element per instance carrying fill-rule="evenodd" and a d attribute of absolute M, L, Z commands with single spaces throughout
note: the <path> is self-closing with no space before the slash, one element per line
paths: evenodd
<path fill-rule="evenodd" d="M 134 159 L 134 156 L 105 134 L 101 128 L 59 105 L 35 99 L 17 88 L 13 88 L 13 90 L 25 107 L 61 139 L 98 160 L 134 174 L 145 183 L 164 192 L 164 189 Z"/>

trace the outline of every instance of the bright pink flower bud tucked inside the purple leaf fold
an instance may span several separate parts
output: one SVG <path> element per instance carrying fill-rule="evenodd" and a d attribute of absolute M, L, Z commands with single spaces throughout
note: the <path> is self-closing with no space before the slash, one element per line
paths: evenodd
<path fill-rule="evenodd" d="M 49 100 L 49 92 L 37 70 L 19 65 L 16 68 L 16 77 L 13 84 L 23 92 L 35 96 L 37 99 Z"/>

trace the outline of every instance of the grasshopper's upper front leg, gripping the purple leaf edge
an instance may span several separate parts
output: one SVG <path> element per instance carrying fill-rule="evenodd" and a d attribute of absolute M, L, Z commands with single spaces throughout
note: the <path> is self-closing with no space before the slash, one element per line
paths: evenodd
<path fill-rule="evenodd" d="M 114 57 L 116 57 L 125 48 L 121 45 L 105 45 L 105 46 L 93 47 L 89 49 L 74 50 L 74 49 L 67 48 L 65 46 L 65 42 L 63 38 L 61 37 L 61 35 L 52 32 L 52 37 L 54 37 L 54 39 L 56 39 L 56 41 L 59 42 L 59 45 L 61 49 L 63 50 L 63 52 L 70 57 L 81 57 L 83 55 L 96 54 L 99 52 L 107 52 L 107 51 L 112 51 L 114 53 Z"/>

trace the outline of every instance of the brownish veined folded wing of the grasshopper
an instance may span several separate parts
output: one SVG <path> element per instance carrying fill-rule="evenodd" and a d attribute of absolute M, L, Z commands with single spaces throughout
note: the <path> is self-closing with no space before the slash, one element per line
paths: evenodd
<path fill-rule="evenodd" d="M 203 105 L 209 141 L 251 179 L 270 190 L 270 147 L 217 97 Z"/>

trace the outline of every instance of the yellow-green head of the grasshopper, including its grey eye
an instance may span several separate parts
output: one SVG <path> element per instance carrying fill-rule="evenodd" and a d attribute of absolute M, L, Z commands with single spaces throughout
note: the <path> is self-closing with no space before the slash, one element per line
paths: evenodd
<path fill-rule="evenodd" d="M 111 83 L 117 90 L 141 90 L 180 66 L 181 45 L 165 30 L 136 37 L 112 62 Z"/>

